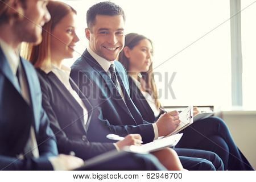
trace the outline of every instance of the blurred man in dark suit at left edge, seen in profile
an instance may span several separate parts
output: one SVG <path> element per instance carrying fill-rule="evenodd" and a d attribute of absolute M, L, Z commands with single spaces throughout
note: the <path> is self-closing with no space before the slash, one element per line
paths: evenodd
<path fill-rule="evenodd" d="M 19 57 L 22 42 L 40 43 L 51 18 L 46 0 L 0 1 L 0 170 L 80 167 L 83 160 L 57 155 L 34 67 Z"/>

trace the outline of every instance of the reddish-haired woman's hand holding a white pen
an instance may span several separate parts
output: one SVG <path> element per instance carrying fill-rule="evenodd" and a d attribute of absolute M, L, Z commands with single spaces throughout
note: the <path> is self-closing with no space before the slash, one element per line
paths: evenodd
<path fill-rule="evenodd" d="M 115 143 L 120 149 L 125 146 L 141 146 L 142 138 L 140 134 L 130 134 L 125 137 L 122 141 Z"/>

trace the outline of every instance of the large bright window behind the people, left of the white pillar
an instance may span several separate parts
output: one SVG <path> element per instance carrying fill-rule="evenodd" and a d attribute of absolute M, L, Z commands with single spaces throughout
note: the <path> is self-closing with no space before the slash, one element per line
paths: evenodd
<path fill-rule="evenodd" d="M 80 42 L 76 50 L 82 53 L 88 45 L 86 11 L 100 1 L 64 2 L 78 12 Z M 137 32 L 154 43 L 155 80 L 163 106 L 231 106 L 229 1 L 112 2 L 126 13 L 126 34 Z M 66 64 L 72 65 L 79 56 Z"/>

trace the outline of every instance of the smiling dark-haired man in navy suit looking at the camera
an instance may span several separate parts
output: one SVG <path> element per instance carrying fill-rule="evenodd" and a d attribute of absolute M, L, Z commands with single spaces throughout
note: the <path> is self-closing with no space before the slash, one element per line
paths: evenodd
<path fill-rule="evenodd" d="M 93 107 L 100 107 L 101 117 L 105 119 L 90 122 L 88 139 L 106 142 L 108 133 L 122 137 L 138 133 L 148 143 L 174 131 L 180 123 L 177 111 L 161 115 L 152 124 L 142 119 L 131 101 L 126 70 L 115 61 L 125 41 L 125 14 L 121 7 L 112 2 L 97 3 L 87 11 L 86 20 L 89 47 L 72 65 L 71 77 Z M 221 159 L 213 152 L 189 149 L 176 152 L 183 156 L 180 160 L 186 169 L 223 169 Z"/>

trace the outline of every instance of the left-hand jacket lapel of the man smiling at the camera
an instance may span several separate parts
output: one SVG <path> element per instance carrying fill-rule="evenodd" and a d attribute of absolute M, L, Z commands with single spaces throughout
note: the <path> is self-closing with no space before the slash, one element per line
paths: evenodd
<path fill-rule="evenodd" d="M 108 74 L 104 71 L 104 69 L 98 64 L 98 62 L 89 54 L 89 52 L 86 50 L 84 55 L 86 57 L 86 60 L 88 60 L 88 63 L 94 68 L 95 71 L 98 72 L 98 74 L 103 78 L 103 80 L 106 82 L 106 85 L 108 89 L 110 90 L 110 93 L 112 94 L 112 97 L 114 100 L 118 103 L 118 105 L 131 117 L 133 115 L 130 113 L 128 107 L 126 106 L 125 102 L 123 101 L 123 98 L 119 94 L 117 88 L 115 88 L 115 85 L 111 78 L 108 76 Z M 120 77 L 119 77 L 120 78 Z M 118 79 L 119 83 L 121 84 L 121 79 Z M 125 89 L 124 89 L 125 90 Z M 124 93 L 126 94 L 126 93 Z"/>

